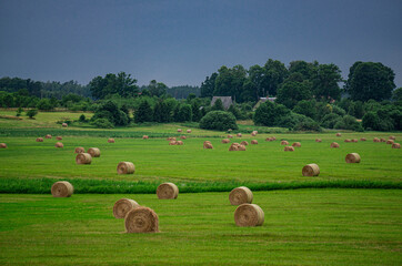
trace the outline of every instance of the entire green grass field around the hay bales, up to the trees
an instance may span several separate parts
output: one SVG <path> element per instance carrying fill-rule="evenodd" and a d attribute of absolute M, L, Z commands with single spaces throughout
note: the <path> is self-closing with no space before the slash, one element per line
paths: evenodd
<path fill-rule="evenodd" d="M 194 123 L 113 130 L 56 124 L 80 114 L 0 117 L 0 143 L 8 145 L 0 150 L 1 265 L 401 265 L 402 153 L 372 142 L 390 135 L 400 142 L 400 132 L 336 137 L 334 131 L 289 133 L 242 122 L 243 137 L 231 142 L 259 144 L 229 152 L 221 143 L 225 132 Z M 169 146 L 165 139 L 180 136 L 179 127 L 192 133 L 183 133 L 184 145 Z M 259 131 L 255 137 L 252 130 Z M 48 133 L 53 139 L 36 142 Z M 63 149 L 54 147 L 57 135 Z M 265 142 L 272 135 L 277 141 Z M 368 141 L 343 142 L 360 137 Z M 283 152 L 282 139 L 302 146 Z M 207 140 L 213 150 L 202 147 Z M 334 141 L 340 149 L 330 149 Z M 99 147 L 101 156 L 77 165 L 77 146 Z M 351 152 L 361 155 L 360 164 L 345 163 Z M 121 161 L 133 162 L 135 173 L 118 175 Z M 319 176 L 302 176 L 308 163 L 319 164 Z M 71 198 L 50 195 L 58 180 L 73 184 Z M 162 182 L 179 186 L 178 200 L 157 198 Z M 235 226 L 228 196 L 240 185 L 253 191 L 253 203 L 265 213 L 263 226 Z M 122 197 L 153 208 L 161 233 L 124 234 L 123 221 L 112 215 Z"/>

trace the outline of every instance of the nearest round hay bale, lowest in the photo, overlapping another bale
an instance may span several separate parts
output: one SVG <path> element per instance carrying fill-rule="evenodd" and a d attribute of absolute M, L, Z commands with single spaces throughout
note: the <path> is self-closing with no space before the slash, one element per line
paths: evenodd
<path fill-rule="evenodd" d="M 124 218 L 127 233 L 158 233 L 159 218 L 149 207 L 135 207 L 128 212 Z"/>

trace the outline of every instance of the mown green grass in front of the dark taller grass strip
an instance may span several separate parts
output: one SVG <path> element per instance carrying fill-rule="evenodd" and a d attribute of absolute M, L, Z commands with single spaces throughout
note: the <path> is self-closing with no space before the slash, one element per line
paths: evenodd
<path fill-rule="evenodd" d="M 161 233 L 124 234 L 115 201 L 153 208 Z M 400 190 L 255 192 L 260 227 L 237 227 L 228 193 L 0 195 L 1 265 L 400 265 Z"/>

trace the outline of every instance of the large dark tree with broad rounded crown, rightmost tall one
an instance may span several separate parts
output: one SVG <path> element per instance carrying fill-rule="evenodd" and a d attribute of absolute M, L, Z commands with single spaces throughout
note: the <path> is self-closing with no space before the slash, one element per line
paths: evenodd
<path fill-rule="evenodd" d="M 358 61 L 350 68 L 344 89 L 355 101 L 382 101 L 391 98 L 394 78 L 393 70 L 382 63 Z"/>

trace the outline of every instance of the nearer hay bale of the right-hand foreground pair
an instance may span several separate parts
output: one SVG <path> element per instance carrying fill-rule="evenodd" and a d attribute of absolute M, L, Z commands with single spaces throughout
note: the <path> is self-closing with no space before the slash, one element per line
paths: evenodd
<path fill-rule="evenodd" d="M 264 212 L 259 205 L 244 203 L 234 211 L 237 226 L 260 226 L 264 223 Z"/>

